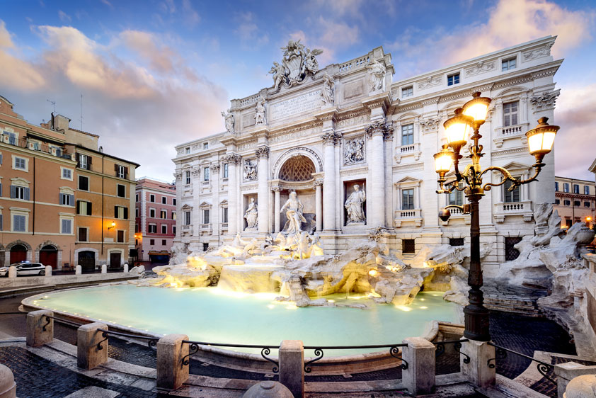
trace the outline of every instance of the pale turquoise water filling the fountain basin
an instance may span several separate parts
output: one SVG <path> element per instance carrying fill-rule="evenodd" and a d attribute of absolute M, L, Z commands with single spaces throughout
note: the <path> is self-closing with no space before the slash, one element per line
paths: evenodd
<path fill-rule="evenodd" d="M 108 324 L 155 334 L 187 334 L 192 340 L 212 343 L 277 346 L 282 340 L 295 339 L 305 346 L 359 346 L 401 343 L 406 337 L 423 334 L 432 320 L 457 322 L 457 305 L 442 300 L 442 294 L 420 292 L 408 306 L 377 305 L 356 294 L 332 295 L 326 298 L 338 305 L 365 303 L 369 309 L 298 308 L 276 302 L 275 294 L 113 285 L 52 292 L 35 304 Z M 359 352 L 366 350 L 333 351 L 326 356 Z"/>

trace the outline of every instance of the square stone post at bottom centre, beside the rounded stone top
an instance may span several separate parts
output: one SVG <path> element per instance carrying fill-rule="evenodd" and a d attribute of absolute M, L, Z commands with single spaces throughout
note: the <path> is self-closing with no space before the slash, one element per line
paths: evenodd
<path fill-rule="evenodd" d="M 304 344 L 300 340 L 284 340 L 280 345 L 280 383 L 294 398 L 304 398 Z"/>

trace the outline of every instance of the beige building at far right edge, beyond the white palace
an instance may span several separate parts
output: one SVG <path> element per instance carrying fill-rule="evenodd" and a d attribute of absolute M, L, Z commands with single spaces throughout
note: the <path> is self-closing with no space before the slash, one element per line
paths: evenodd
<path fill-rule="evenodd" d="M 596 213 L 596 186 L 594 181 L 555 177 L 555 210 L 561 216 L 561 227 L 585 222 L 592 227 Z"/>

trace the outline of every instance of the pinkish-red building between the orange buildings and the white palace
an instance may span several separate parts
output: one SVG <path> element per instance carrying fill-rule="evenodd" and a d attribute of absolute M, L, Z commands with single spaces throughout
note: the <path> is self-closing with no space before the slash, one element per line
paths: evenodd
<path fill-rule="evenodd" d="M 134 246 L 140 261 L 167 261 L 176 237 L 176 184 L 137 180 Z"/>

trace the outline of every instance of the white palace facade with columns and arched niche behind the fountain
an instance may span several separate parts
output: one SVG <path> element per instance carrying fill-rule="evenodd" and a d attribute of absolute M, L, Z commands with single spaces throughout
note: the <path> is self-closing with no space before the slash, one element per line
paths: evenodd
<path fill-rule="evenodd" d="M 294 191 L 304 206 L 303 229 L 316 231 L 328 254 L 371 232 L 412 262 L 434 244 L 466 244 L 469 215 L 456 213 L 447 222 L 437 217 L 447 204 L 466 203 L 461 192 L 435 193 L 433 155 L 446 142 L 443 122 L 474 91 L 491 97 L 480 130 L 481 165 L 532 176 L 525 132 L 541 116 L 556 124 L 553 78 L 562 60 L 551 56 L 555 40 L 533 40 L 400 81 L 393 81 L 394 64 L 382 47 L 319 69 L 319 50 L 290 41 L 271 69 L 272 87 L 232 100 L 222 113 L 223 132 L 176 146 L 174 242 L 200 251 L 236 234 L 275 235 L 286 227 L 280 210 Z M 463 151 L 465 167 L 469 149 Z M 481 241 L 490 248 L 485 263 L 510 258 L 512 245 L 534 234 L 534 207 L 554 203 L 554 156 L 544 161 L 539 182 L 514 191 L 499 186 L 481 200 Z M 496 183 L 500 174 L 487 178 Z M 346 200 L 356 185 L 365 193 L 358 194 L 365 197 L 363 220 L 358 212 L 348 215 Z"/>

